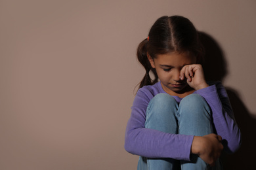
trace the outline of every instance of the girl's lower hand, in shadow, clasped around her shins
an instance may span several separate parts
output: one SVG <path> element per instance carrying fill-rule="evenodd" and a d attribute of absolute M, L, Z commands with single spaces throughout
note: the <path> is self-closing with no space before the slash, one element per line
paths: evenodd
<path fill-rule="evenodd" d="M 195 136 L 192 142 L 191 151 L 211 166 L 215 166 L 217 158 L 221 156 L 223 144 L 221 136 L 211 133 L 203 137 Z"/>

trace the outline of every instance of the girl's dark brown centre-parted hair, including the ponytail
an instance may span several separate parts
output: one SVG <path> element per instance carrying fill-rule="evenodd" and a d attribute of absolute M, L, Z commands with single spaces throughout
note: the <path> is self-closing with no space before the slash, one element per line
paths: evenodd
<path fill-rule="evenodd" d="M 148 38 L 140 42 L 137 49 L 137 58 L 146 70 L 139 88 L 158 82 L 156 69 L 151 67 L 147 54 L 154 59 L 159 54 L 190 52 L 196 56 L 197 63 L 202 62 L 203 48 L 198 31 L 192 22 L 183 16 L 162 16 L 152 25 Z M 150 78 L 150 71 L 155 76 L 154 80 Z"/>

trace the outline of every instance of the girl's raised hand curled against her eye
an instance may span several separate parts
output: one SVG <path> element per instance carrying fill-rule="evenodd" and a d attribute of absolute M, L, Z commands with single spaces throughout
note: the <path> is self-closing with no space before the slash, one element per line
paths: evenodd
<path fill-rule="evenodd" d="M 180 78 L 181 80 L 186 78 L 186 82 L 194 90 L 200 90 L 209 86 L 205 81 L 203 67 L 200 64 L 185 65 L 182 67 Z"/>

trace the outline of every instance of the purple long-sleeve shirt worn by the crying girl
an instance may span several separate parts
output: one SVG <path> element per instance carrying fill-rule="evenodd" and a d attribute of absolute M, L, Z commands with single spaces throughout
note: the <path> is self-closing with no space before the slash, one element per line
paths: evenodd
<path fill-rule="evenodd" d="M 125 131 L 125 150 L 131 154 L 147 158 L 173 158 L 190 160 L 190 150 L 194 136 L 171 134 L 146 129 L 146 108 L 150 100 L 158 93 L 166 93 L 160 82 L 139 89 L 133 106 L 131 117 Z M 209 84 L 209 87 L 197 90 L 212 110 L 213 126 L 217 135 L 223 138 L 224 150 L 233 153 L 240 147 L 241 135 L 230 106 L 228 95 L 221 82 Z M 179 103 L 182 98 L 173 96 Z"/>

